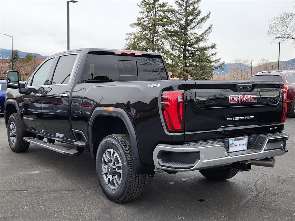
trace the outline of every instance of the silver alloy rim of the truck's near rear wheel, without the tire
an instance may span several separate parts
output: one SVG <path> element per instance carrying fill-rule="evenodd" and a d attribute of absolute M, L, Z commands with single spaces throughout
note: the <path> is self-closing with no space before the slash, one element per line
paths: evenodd
<path fill-rule="evenodd" d="M 107 149 L 101 159 L 102 176 L 110 189 L 118 189 L 122 177 L 122 163 L 119 155 L 113 149 Z"/>

